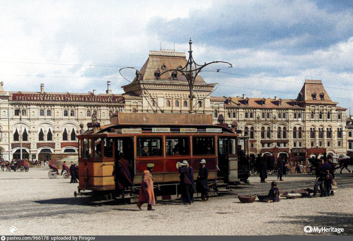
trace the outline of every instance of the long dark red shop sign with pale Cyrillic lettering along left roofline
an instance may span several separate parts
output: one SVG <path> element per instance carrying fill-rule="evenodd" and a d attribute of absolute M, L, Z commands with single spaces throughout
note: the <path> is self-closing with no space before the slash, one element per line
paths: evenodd
<path fill-rule="evenodd" d="M 123 103 L 122 96 L 93 94 L 12 94 L 12 101 Z"/>

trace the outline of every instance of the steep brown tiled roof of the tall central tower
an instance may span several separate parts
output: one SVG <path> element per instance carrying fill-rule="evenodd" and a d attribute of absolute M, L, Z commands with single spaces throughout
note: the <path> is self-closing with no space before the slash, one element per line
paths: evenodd
<path fill-rule="evenodd" d="M 169 71 L 161 75 L 161 77 L 156 80 L 155 72 L 159 70 L 161 73 L 166 70 L 177 69 L 178 67 L 184 67 L 187 63 L 187 60 L 184 57 L 180 56 L 163 56 L 163 55 L 153 55 L 150 54 L 149 58 L 146 60 L 145 64 L 142 66 L 139 76 L 139 80 L 143 81 L 174 81 L 174 82 L 187 82 L 185 76 L 181 75 L 180 72 L 177 72 L 177 80 L 173 80 L 172 73 Z M 134 78 L 133 82 L 137 81 L 137 77 Z M 205 83 L 200 75 L 196 77 L 196 83 Z"/>

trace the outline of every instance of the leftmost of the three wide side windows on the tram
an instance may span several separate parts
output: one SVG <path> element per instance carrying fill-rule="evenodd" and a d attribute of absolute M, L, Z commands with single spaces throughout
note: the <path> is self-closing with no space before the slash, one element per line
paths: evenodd
<path fill-rule="evenodd" d="M 137 155 L 145 156 L 161 156 L 162 155 L 162 138 L 138 138 L 137 139 Z"/>

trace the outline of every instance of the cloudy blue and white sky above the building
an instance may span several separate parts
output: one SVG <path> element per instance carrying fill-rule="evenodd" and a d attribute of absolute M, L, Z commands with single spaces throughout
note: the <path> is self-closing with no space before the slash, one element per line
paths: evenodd
<path fill-rule="evenodd" d="M 122 93 L 119 66 L 191 37 L 196 61 L 234 66 L 202 72 L 214 95 L 295 98 L 319 79 L 353 113 L 353 1 L 1 1 L 0 26 L 5 90 Z"/>

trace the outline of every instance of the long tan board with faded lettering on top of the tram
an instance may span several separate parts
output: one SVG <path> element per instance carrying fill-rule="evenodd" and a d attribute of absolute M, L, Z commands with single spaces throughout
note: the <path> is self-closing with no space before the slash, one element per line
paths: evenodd
<path fill-rule="evenodd" d="M 118 112 L 109 118 L 119 125 L 212 125 L 209 114 L 125 113 Z"/>

